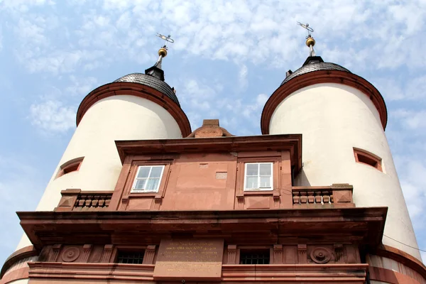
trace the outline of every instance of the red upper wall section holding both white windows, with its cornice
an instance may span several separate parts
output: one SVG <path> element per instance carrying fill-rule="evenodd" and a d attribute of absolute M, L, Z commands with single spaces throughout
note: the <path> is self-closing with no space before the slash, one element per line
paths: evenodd
<path fill-rule="evenodd" d="M 291 208 L 300 135 L 117 141 L 123 162 L 109 209 Z"/>

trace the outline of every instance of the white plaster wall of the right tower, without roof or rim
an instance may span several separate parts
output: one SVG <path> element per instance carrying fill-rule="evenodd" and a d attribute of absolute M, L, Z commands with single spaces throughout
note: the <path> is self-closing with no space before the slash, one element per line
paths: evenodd
<path fill-rule="evenodd" d="M 417 247 L 379 114 L 366 94 L 343 84 L 302 88 L 275 109 L 270 133 L 302 133 L 304 165 L 296 185 L 354 185 L 356 207 L 388 207 L 384 234 Z M 384 173 L 356 163 L 354 147 L 382 158 Z M 421 259 L 419 251 L 386 236 L 383 244 Z"/>

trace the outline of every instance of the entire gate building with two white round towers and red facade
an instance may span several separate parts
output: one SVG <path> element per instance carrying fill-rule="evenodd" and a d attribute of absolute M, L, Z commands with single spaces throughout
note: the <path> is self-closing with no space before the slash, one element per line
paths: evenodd
<path fill-rule="evenodd" d="M 0 283 L 426 284 L 383 97 L 307 45 L 260 136 L 191 131 L 165 46 L 90 92 Z"/>

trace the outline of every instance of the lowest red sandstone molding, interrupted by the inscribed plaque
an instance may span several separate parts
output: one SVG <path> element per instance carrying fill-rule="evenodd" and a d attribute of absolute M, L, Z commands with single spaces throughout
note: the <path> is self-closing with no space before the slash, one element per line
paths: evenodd
<path fill-rule="evenodd" d="M 111 271 L 122 282 L 153 282 L 154 267 L 151 265 L 129 265 L 122 263 L 28 263 L 29 277 L 46 282 L 58 280 L 58 275 L 72 275 L 76 283 L 111 282 Z M 277 264 L 273 266 L 222 265 L 222 277 L 229 283 L 261 281 L 271 283 L 353 283 L 363 284 L 368 264 Z M 87 273 L 81 273 L 84 270 Z M 297 279 L 297 280 L 295 280 Z M 180 281 L 179 281 L 180 282 Z M 38 282 L 41 283 L 41 282 Z M 111 282 L 112 283 L 112 282 Z"/>

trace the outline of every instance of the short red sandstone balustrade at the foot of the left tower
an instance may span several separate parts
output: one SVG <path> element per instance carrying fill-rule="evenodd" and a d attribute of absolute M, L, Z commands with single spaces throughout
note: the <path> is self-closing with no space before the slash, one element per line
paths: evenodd
<path fill-rule="evenodd" d="M 55 211 L 100 211 L 107 209 L 112 192 L 62 190 Z"/>

